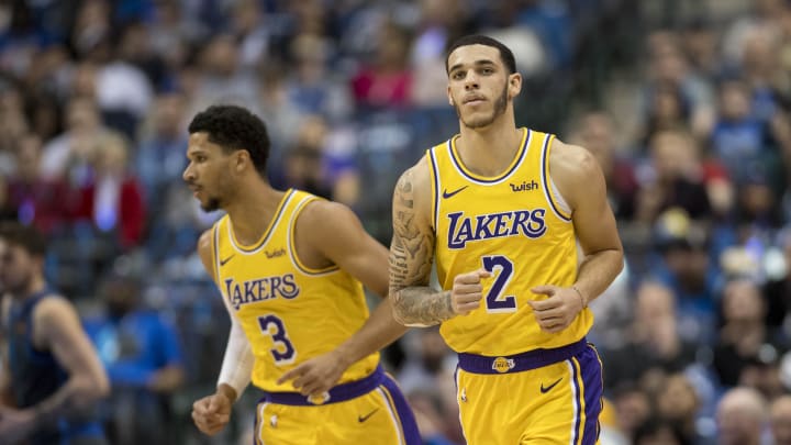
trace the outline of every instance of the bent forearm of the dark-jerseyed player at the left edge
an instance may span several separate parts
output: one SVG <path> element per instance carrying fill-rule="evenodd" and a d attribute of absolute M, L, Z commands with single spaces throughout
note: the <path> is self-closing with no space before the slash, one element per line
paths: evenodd
<path fill-rule="evenodd" d="M 71 377 L 54 394 L 31 409 L 37 424 L 52 424 L 58 419 L 81 418 L 96 402 L 110 392 L 105 379 Z"/>

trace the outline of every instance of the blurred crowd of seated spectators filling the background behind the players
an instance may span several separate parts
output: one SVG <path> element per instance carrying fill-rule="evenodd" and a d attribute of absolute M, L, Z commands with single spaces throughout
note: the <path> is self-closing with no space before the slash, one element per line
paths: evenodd
<path fill-rule="evenodd" d="M 201 436 L 229 320 L 194 254 L 219 214 L 181 181 L 186 124 L 243 104 L 270 180 L 390 241 L 400 174 L 458 131 L 445 46 L 509 45 L 517 124 L 599 159 L 627 267 L 592 307 L 603 444 L 791 443 L 791 1 L 5 0 L 0 218 L 108 367 L 114 444 L 249 443 L 257 392 Z M 385 354 L 426 443 L 461 444 L 435 329 Z"/>

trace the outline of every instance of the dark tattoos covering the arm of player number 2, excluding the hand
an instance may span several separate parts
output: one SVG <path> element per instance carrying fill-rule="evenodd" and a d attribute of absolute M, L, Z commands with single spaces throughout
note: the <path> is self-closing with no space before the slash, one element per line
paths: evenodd
<path fill-rule="evenodd" d="M 416 218 L 409 170 L 396 186 L 390 245 L 390 296 L 396 318 L 403 324 L 430 326 L 455 315 L 450 292 L 428 287 L 433 255 L 434 232 Z"/>

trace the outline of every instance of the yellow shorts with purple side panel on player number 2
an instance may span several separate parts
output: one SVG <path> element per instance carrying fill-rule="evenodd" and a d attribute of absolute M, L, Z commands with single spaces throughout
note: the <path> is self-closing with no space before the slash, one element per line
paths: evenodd
<path fill-rule="evenodd" d="M 584 340 L 510 357 L 459 354 L 457 400 L 467 443 L 598 444 L 601 372 L 599 354 Z"/>

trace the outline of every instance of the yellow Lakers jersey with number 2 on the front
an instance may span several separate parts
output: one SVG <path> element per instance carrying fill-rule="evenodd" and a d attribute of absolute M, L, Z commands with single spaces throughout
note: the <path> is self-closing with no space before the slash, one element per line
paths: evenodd
<path fill-rule="evenodd" d="M 458 136 L 456 136 L 458 137 Z M 528 300 L 539 285 L 568 287 L 577 277 L 577 245 L 568 210 L 549 178 L 554 136 L 523 129 L 505 173 L 495 178 L 461 163 L 456 137 L 428 149 L 436 234 L 435 260 L 443 289 L 481 267 L 481 305 L 444 322 L 441 333 L 459 353 L 501 356 L 564 346 L 582 338 L 593 314 L 584 309 L 562 332 L 541 331 Z"/>

